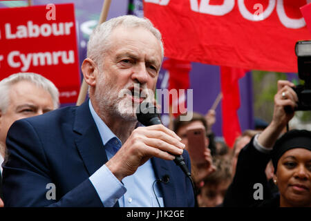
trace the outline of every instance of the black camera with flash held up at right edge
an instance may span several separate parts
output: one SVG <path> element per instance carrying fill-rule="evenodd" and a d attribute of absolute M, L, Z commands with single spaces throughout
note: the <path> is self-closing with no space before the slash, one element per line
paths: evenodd
<path fill-rule="evenodd" d="M 293 88 L 299 100 L 294 111 L 309 111 L 311 110 L 311 41 L 297 41 L 295 52 L 298 61 L 298 77 L 305 83 Z"/>

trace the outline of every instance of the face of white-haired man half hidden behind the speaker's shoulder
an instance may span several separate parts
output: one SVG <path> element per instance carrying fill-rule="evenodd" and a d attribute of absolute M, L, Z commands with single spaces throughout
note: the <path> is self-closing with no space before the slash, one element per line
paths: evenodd
<path fill-rule="evenodd" d="M 0 143 L 5 144 L 10 126 L 17 120 L 41 115 L 53 110 L 53 99 L 48 91 L 29 81 L 19 81 L 10 86 L 9 104 L 0 112 Z M 1 102 L 1 101 L 0 101 Z"/>

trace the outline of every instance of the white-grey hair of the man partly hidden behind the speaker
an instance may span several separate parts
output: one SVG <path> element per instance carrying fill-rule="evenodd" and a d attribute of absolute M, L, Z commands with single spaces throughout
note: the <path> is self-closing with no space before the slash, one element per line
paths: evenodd
<path fill-rule="evenodd" d="M 54 109 L 59 107 L 59 92 L 52 81 L 35 73 L 16 73 L 0 81 L 0 111 L 3 113 L 6 113 L 6 108 L 8 108 L 10 102 L 8 95 L 10 86 L 17 84 L 19 81 L 29 81 L 48 91 L 53 99 Z"/>

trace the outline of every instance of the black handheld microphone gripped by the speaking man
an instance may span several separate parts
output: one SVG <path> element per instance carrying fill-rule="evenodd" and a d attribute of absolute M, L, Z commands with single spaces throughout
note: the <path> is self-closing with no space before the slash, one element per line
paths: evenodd
<path fill-rule="evenodd" d="M 144 126 L 162 124 L 162 122 L 160 121 L 160 117 L 157 113 L 156 106 L 153 106 L 153 104 L 149 102 L 142 102 L 140 106 L 138 106 L 136 110 L 136 116 L 138 122 L 140 122 Z M 171 155 L 175 156 L 174 162 L 176 163 L 177 166 L 180 166 L 180 169 L 182 169 L 185 175 L 191 177 L 191 173 L 189 173 L 188 167 L 185 164 L 185 160 L 182 157 L 182 155 L 175 155 L 175 154 Z"/>

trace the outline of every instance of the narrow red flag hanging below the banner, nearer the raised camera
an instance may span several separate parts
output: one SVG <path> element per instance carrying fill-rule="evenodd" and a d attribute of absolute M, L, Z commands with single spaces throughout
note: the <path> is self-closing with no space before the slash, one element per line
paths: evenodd
<path fill-rule="evenodd" d="M 227 145 L 232 148 L 236 137 L 241 135 L 238 122 L 238 108 L 240 108 L 240 91 L 238 79 L 245 76 L 242 68 L 220 67 L 221 90 L 223 93 L 223 137 Z"/>

